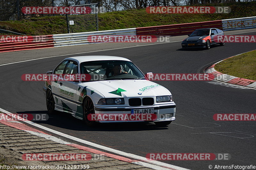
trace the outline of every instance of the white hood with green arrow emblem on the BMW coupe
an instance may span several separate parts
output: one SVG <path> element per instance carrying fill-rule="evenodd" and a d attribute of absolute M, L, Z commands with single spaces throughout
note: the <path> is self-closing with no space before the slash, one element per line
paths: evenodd
<path fill-rule="evenodd" d="M 168 89 L 148 80 L 93 81 L 84 84 L 97 90 L 105 98 L 171 95 Z"/>

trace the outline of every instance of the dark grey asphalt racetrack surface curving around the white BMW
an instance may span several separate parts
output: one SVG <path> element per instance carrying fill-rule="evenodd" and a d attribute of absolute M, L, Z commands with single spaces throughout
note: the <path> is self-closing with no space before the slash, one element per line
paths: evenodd
<path fill-rule="evenodd" d="M 240 35 L 256 35 L 256 32 Z M 182 39 L 181 39 L 182 40 Z M 84 46 L 86 49 L 89 46 Z M 138 46 L 84 55 L 112 55 L 132 60 L 143 73 L 202 73 L 203 68 L 221 59 L 255 49 L 255 43 L 226 43 L 210 50 L 181 50 L 181 42 Z M 73 47 L 75 48 L 75 47 Z M 65 47 L 44 49 L 45 55 Z M 70 53 L 72 47 L 68 47 Z M 47 51 L 49 51 L 47 53 Z M 40 53 L 40 50 L 37 50 Z M 9 56 L 28 56 L 11 52 Z M 19 55 L 17 55 L 19 54 Z M 0 54 L 1 55 L 1 54 Z M 25 56 L 26 55 L 26 56 Z M 79 56 L 75 54 L 70 56 Z M 47 113 L 43 82 L 22 81 L 22 74 L 39 74 L 53 69 L 62 59 L 15 63 L 0 67 L 0 107 L 12 113 Z M 256 113 L 256 90 L 212 84 L 214 81 L 156 81 L 172 92 L 177 105 L 176 120 L 157 128 L 152 123 L 102 124 L 86 127 L 69 114 L 57 112 L 46 122 L 37 122 L 68 135 L 120 151 L 145 157 L 147 153 L 229 153 L 230 160 L 164 160 L 188 169 L 209 169 L 212 165 L 255 165 L 255 121 L 217 122 L 216 113 Z M 214 132 L 214 133 L 213 133 Z"/>

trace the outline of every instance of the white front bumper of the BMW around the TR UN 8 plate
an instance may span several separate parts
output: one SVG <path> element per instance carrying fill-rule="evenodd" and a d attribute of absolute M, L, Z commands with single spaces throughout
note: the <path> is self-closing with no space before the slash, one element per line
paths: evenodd
<path fill-rule="evenodd" d="M 160 122 L 175 120 L 176 104 L 155 105 L 148 107 L 98 107 L 95 106 L 96 114 L 131 114 L 132 109 L 150 109 L 154 108 L 156 119 L 146 122 Z M 114 122 L 145 122 L 145 120 L 118 120 L 118 121 L 98 121 L 100 123 L 114 123 Z"/>

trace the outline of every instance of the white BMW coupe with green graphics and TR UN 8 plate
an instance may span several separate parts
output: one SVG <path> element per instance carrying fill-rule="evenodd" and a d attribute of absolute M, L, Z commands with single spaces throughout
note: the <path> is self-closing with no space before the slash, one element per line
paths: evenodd
<path fill-rule="evenodd" d="M 66 58 L 47 72 L 43 89 L 50 113 L 54 110 L 71 113 L 88 126 L 95 126 L 96 122 L 128 121 L 151 121 L 166 126 L 175 120 L 176 104 L 171 92 L 149 81 L 132 61 L 122 57 Z M 115 117 L 120 114 L 125 117 Z M 143 114 L 154 118 L 138 116 Z"/>

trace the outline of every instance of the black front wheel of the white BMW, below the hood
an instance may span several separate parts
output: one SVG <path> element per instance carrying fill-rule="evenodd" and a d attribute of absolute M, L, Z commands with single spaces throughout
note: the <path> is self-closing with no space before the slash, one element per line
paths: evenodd
<path fill-rule="evenodd" d="M 97 122 L 88 120 L 87 116 L 89 114 L 95 114 L 95 111 L 92 100 L 89 97 L 87 97 L 86 99 L 84 99 L 83 103 L 83 121 L 87 126 L 94 127 Z"/>

